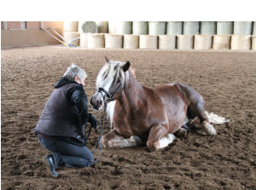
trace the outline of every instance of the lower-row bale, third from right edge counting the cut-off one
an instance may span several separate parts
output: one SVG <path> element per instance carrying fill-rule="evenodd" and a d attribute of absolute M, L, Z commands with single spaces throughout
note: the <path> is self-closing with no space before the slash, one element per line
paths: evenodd
<path fill-rule="evenodd" d="M 231 35 L 213 35 L 212 49 L 230 49 Z"/>

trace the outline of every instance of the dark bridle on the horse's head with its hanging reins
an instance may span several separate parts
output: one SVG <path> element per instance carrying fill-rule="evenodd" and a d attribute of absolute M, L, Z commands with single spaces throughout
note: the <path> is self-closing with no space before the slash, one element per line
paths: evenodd
<path fill-rule="evenodd" d="M 100 118 L 100 115 L 99 115 L 99 111 L 97 110 L 97 115 L 98 115 L 98 118 L 99 118 L 99 123 L 100 123 L 100 126 L 101 126 L 101 130 L 102 130 L 102 136 L 103 136 L 103 130 L 104 130 L 104 126 L 105 126 L 105 113 L 106 113 L 106 108 L 107 108 L 107 106 L 108 106 L 108 103 L 113 100 L 114 95 L 118 94 L 118 91 L 119 91 L 119 89 L 121 88 L 121 86 L 122 86 L 122 83 L 120 83 L 120 85 L 118 86 L 118 88 L 115 89 L 115 90 L 113 91 L 113 93 L 111 93 L 111 94 L 110 94 L 106 89 L 103 89 L 103 88 L 101 88 L 101 87 L 96 90 L 96 92 L 101 93 L 101 95 L 102 95 L 102 97 L 103 97 L 103 101 L 104 101 L 104 120 L 103 120 L 103 127 L 102 127 L 102 122 L 101 122 L 101 118 Z M 105 93 L 105 95 L 103 95 L 103 92 Z M 120 96 L 121 94 L 122 94 L 122 93 L 120 93 L 119 96 Z M 107 99 L 106 99 L 106 95 L 108 96 Z M 91 106 L 93 105 L 93 101 L 92 101 L 92 100 L 93 100 L 93 97 L 91 97 L 91 99 L 90 99 L 90 105 L 91 105 Z M 97 103 L 98 103 L 98 105 L 99 105 L 99 101 L 97 101 Z M 99 135 L 98 135 L 98 131 L 97 131 L 97 130 L 96 130 L 96 133 L 97 133 L 96 149 L 92 152 L 92 154 L 96 153 L 96 150 L 98 149 L 98 147 L 101 147 L 101 151 L 100 151 L 100 153 L 99 153 L 98 158 L 96 159 L 96 162 L 93 163 L 92 165 L 96 164 L 96 163 L 99 161 L 99 159 L 100 159 L 100 157 L 101 157 L 101 154 L 102 154 L 102 136 L 101 136 L 101 140 L 99 141 Z M 90 135 L 90 133 L 88 134 L 88 137 L 89 137 L 89 135 Z M 87 137 L 87 139 L 88 139 L 88 137 Z"/>

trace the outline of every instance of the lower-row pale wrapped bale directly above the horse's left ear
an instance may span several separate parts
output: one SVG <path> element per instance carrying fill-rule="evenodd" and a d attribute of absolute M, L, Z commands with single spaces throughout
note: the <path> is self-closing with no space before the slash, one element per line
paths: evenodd
<path fill-rule="evenodd" d="M 122 49 L 123 35 L 105 34 L 105 48 L 107 49 Z"/>

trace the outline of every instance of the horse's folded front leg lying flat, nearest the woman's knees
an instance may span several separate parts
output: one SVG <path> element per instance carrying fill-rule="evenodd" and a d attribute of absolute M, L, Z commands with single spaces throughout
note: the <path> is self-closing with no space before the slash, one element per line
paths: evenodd
<path fill-rule="evenodd" d="M 125 139 L 114 129 L 102 137 L 103 147 L 137 147 L 142 144 L 143 141 L 137 135 L 131 135 L 130 138 Z"/>

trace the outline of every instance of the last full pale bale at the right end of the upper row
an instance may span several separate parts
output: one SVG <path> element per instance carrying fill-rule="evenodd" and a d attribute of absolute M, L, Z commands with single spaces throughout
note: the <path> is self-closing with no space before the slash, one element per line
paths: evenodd
<path fill-rule="evenodd" d="M 234 34 L 235 35 L 251 35 L 253 30 L 253 21 L 235 21 Z"/>

